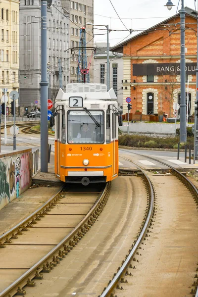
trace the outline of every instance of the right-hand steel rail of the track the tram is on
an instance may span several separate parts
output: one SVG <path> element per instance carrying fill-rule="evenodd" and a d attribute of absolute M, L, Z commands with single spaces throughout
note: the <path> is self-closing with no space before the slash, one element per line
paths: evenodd
<path fill-rule="evenodd" d="M 39 260 L 36 264 L 34 264 L 30 269 L 28 269 L 23 275 L 21 275 L 17 280 L 15 280 L 11 285 L 9 285 L 6 289 L 4 289 L 1 293 L 0 293 L 0 297 L 5 296 L 6 294 L 10 293 L 12 290 L 15 291 L 14 294 L 16 294 L 16 286 L 19 286 L 22 282 L 25 281 L 25 279 L 27 279 L 30 275 L 33 275 L 36 271 L 38 271 L 38 268 L 44 264 L 51 256 L 54 255 L 55 252 L 57 252 L 60 247 L 62 247 L 72 236 L 75 235 L 75 233 L 83 226 L 83 224 L 85 224 L 87 222 L 87 220 L 89 219 L 89 217 L 92 215 L 92 213 L 96 210 L 96 208 L 99 206 L 100 201 L 103 199 L 103 196 L 105 194 L 106 191 L 108 191 L 110 189 L 110 183 L 107 183 L 103 192 L 101 193 L 100 198 L 98 199 L 98 201 L 96 201 L 96 203 L 93 205 L 93 207 L 90 209 L 90 211 L 87 213 L 87 215 L 82 219 L 82 221 L 64 238 L 61 240 L 61 242 L 59 244 L 57 244 L 55 247 L 53 247 L 41 260 Z M 42 268 L 41 271 L 42 272 Z M 33 279 L 34 277 L 32 277 Z M 26 281 L 27 283 L 27 281 Z M 26 285 L 23 284 L 23 287 Z M 13 296 L 10 295 L 10 296 Z"/>

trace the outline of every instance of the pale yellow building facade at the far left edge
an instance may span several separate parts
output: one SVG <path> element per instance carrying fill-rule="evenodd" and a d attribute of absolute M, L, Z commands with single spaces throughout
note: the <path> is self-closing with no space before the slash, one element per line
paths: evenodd
<path fill-rule="evenodd" d="M 0 1 L 0 100 L 8 97 L 7 114 L 11 112 L 9 93 L 19 89 L 19 1 Z M 2 100 L 0 101 L 2 104 Z M 18 100 L 16 100 L 18 106 Z"/>

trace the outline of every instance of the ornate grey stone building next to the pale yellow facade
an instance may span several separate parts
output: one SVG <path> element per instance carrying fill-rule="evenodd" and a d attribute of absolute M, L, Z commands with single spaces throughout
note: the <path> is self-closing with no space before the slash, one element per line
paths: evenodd
<path fill-rule="evenodd" d="M 54 100 L 59 90 L 69 82 L 69 13 L 60 0 L 48 8 L 48 79 L 49 99 Z M 41 1 L 20 2 L 20 106 L 39 107 L 41 81 Z"/>

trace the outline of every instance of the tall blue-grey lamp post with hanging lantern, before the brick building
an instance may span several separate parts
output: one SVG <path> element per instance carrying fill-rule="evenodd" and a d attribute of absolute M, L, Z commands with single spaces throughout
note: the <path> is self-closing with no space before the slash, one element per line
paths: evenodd
<path fill-rule="evenodd" d="M 171 0 L 168 0 L 164 5 L 171 10 L 173 5 Z M 184 143 L 187 140 L 186 135 L 186 63 L 185 63 L 185 16 L 186 11 L 184 8 L 184 0 L 182 0 L 182 8 L 179 10 L 180 13 L 180 27 L 181 27 L 181 53 L 180 53 L 180 89 L 181 89 L 181 104 L 180 104 L 180 142 Z"/>

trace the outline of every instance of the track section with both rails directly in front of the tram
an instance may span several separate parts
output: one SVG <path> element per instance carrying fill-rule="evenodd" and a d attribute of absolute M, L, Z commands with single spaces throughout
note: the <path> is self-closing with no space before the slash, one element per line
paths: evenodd
<path fill-rule="evenodd" d="M 62 187 L 37 211 L 0 236 L 0 297 L 25 295 L 24 287 L 54 268 L 97 220 L 110 193 L 65 192 Z"/>

